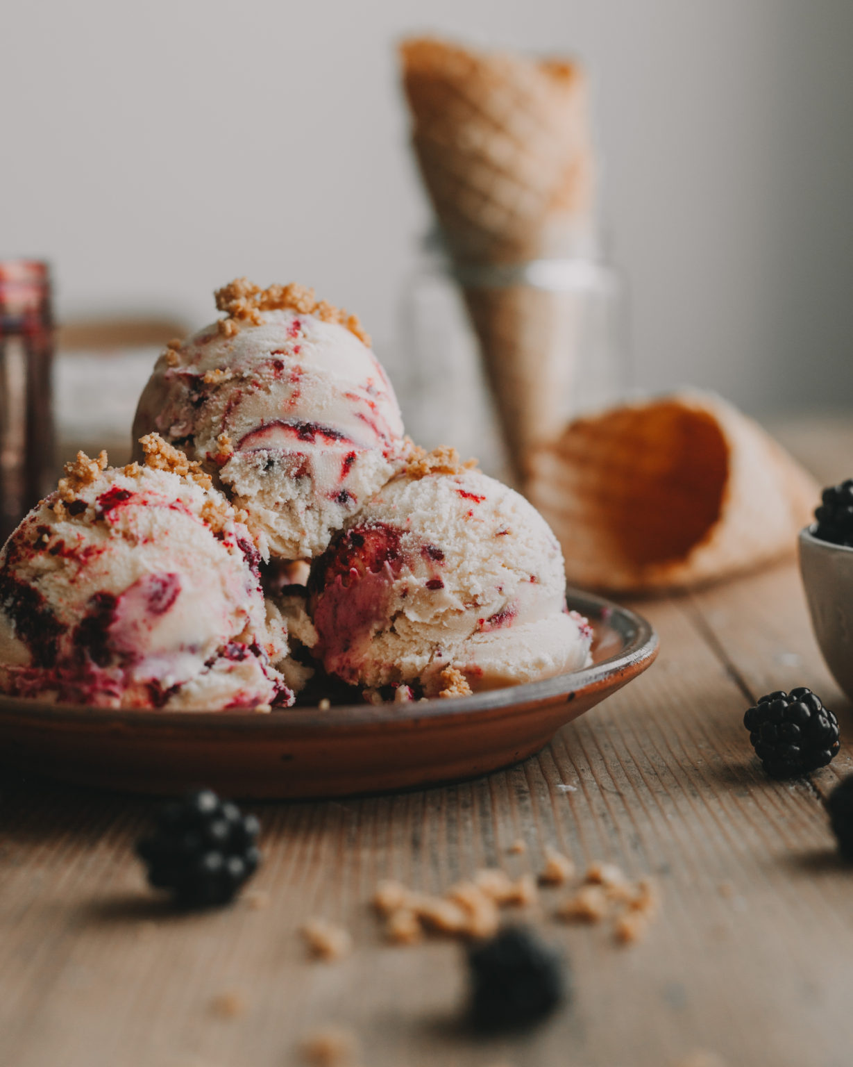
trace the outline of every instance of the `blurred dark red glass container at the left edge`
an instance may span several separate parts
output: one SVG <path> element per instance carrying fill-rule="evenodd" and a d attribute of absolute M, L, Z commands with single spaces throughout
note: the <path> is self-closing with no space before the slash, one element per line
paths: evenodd
<path fill-rule="evenodd" d="M 52 480 L 52 363 L 47 264 L 0 260 L 0 542 Z"/>

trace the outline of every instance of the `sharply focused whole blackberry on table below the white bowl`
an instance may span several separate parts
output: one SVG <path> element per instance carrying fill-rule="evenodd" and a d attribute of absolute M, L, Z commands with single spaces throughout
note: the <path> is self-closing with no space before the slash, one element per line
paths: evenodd
<path fill-rule="evenodd" d="M 838 754 L 838 719 L 810 689 L 777 689 L 746 710 L 743 724 L 765 770 L 793 778 Z"/>

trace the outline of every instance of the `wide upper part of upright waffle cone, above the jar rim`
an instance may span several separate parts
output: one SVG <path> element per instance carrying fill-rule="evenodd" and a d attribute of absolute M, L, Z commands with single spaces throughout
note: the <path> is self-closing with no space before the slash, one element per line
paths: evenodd
<path fill-rule="evenodd" d="M 415 154 L 457 258 L 530 259 L 556 217 L 589 212 L 592 150 L 577 66 L 428 37 L 404 41 L 400 54 Z"/>

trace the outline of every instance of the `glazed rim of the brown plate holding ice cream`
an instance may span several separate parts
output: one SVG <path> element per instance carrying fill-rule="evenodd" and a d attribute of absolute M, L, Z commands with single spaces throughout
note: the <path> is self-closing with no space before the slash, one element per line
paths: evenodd
<path fill-rule="evenodd" d="M 124 724 L 140 729 L 199 730 L 239 729 L 239 731 L 272 731 L 280 736 L 289 729 L 318 728 L 327 731 L 349 730 L 353 727 L 424 720 L 466 719 L 500 716 L 514 713 L 519 706 L 550 702 L 559 698 L 572 699 L 588 688 L 607 683 L 614 676 L 633 676 L 642 666 L 647 666 L 658 653 L 658 635 L 653 625 L 641 615 L 612 601 L 579 589 L 566 590 L 566 602 L 572 610 L 580 611 L 592 623 L 599 623 L 615 631 L 623 640 L 622 648 L 611 656 L 591 667 L 558 674 L 540 682 L 505 686 L 477 692 L 470 697 L 415 701 L 396 704 L 335 704 L 326 711 L 317 706 L 283 708 L 269 714 L 252 710 L 231 712 L 162 712 L 131 711 L 126 708 L 91 707 L 85 704 L 54 704 L 0 696 L 0 713 L 19 714 L 22 718 L 50 722 L 74 723 L 80 721 Z"/>

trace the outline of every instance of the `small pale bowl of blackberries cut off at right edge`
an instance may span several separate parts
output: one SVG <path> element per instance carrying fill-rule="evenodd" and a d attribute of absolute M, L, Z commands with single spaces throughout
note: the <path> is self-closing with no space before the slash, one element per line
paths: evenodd
<path fill-rule="evenodd" d="M 823 658 L 853 700 L 853 478 L 823 491 L 815 520 L 800 532 L 800 572 Z"/>

